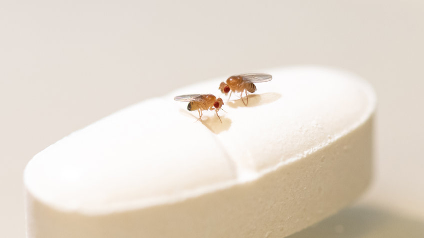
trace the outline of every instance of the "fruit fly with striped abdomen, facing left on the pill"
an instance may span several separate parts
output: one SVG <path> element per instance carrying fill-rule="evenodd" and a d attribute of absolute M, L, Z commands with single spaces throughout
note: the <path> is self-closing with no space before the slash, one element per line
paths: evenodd
<path fill-rule="evenodd" d="M 232 92 L 240 92 L 241 101 L 245 106 L 247 106 L 248 98 L 247 98 L 247 92 L 253 93 L 256 91 L 256 86 L 254 83 L 261 83 L 261 82 L 267 82 L 272 79 L 272 75 L 266 74 L 266 73 L 246 73 L 246 74 L 240 74 L 240 75 L 234 75 L 229 77 L 226 80 L 226 83 L 221 82 L 219 85 L 219 89 L 222 93 L 225 93 L 225 95 L 229 93 L 229 98 L 231 97 Z M 246 93 L 246 103 L 244 103 L 243 100 L 243 92 Z"/>

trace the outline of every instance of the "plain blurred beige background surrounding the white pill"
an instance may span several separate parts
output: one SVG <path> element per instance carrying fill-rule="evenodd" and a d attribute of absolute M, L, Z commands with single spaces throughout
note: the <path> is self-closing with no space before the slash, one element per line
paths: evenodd
<path fill-rule="evenodd" d="M 293 238 L 422 238 L 423 44 L 421 0 L 1 1 L 0 237 L 24 237 L 24 166 L 70 132 L 189 83 L 318 64 L 374 86 L 375 178 Z"/>

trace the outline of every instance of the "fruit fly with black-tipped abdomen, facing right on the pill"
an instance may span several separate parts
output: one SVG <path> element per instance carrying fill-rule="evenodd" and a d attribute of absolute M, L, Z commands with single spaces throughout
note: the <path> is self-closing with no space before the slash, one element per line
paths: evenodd
<path fill-rule="evenodd" d="M 188 94 L 176 96 L 173 98 L 175 101 L 189 102 L 187 105 L 188 111 L 197 110 L 199 113 L 199 119 L 201 121 L 201 116 L 203 110 L 215 110 L 216 116 L 219 121 L 222 123 L 221 118 L 218 115 L 219 109 L 224 104 L 220 97 L 216 98 L 212 94 Z"/>

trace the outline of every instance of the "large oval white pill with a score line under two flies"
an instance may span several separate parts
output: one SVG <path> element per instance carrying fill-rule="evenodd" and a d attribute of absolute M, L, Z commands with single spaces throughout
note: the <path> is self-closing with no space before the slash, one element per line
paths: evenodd
<path fill-rule="evenodd" d="M 371 177 L 372 88 L 321 67 L 266 71 L 244 106 L 179 89 L 105 117 L 24 171 L 28 238 L 284 237 L 351 203 Z M 226 111 L 174 96 L 212 93 Z"/>

